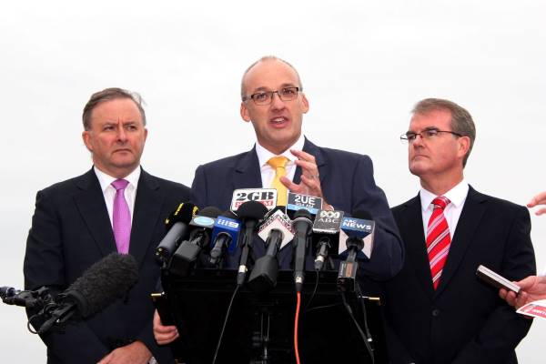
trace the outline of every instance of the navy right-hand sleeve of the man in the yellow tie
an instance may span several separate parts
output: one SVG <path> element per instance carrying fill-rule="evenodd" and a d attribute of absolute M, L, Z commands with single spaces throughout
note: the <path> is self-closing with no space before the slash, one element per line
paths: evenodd
<path fill-rule="evenodd" d="M 404 250 L 399 230 L 389 209 L 387 197 L 373 178 L 369 157 L 359 158 L 352 181 L 351 211 L 369 212 L 376 226 L 371 258 L 359 265 L 359 272 L 369 278 L 393 278 L 402 268 Z"/>

